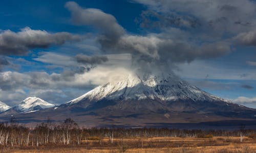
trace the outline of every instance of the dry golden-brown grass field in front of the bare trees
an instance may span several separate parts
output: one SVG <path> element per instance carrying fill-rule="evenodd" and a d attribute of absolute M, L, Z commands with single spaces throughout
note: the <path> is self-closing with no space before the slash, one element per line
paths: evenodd
<path fill-rule="evenodd" d="M 2 152 L 207 152 L 207 153 L 251 153 L 256 152 L 256 140 L 245 137 L 213 137 L 213 138 L 92 138 L 78 146 L 43 145 L 36 147 L 2 147 Z"/>

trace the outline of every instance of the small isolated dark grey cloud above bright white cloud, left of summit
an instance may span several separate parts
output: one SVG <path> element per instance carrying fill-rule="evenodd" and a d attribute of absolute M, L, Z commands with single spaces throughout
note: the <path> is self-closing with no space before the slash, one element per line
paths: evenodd
<path fill-rule="evenodd" d="M 106 56 L 87 56 L 83 54 L 76 55 L 76 61 L 83 64 L 101 64 L 108 61 Z"/>

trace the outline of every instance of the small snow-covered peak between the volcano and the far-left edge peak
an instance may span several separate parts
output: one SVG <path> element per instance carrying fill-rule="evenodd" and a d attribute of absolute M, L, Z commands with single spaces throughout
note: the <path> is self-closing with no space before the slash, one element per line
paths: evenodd
<path fill-rule="evenodd" d="M 41 109 L 49 108 L 53 106 L 55 105 L 49 102 L 46 102 L 45 100 L 42 100 L 40 98 L 28 97 L 25 100 L 23 100 L 20 104 L 14 107 L 17 111 L 29 112 L 29 111 L 41 110 Z"/>

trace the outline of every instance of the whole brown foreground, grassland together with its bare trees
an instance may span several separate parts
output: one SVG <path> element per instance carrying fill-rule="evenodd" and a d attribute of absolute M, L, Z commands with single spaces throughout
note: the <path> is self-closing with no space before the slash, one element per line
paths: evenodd
<path fill-rule="evenodd" d="M 0 123 L 0 152 L 256 152 L 256 130 L 84 128 L 71 118 L 26 127 Z"/>

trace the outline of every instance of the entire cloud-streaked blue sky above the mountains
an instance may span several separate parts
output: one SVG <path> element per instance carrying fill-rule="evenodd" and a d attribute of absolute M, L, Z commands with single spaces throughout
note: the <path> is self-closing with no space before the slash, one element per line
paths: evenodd
<path fill-rule="evenodd" d="M 9 105 L 67 102 L 111 75 L 161 64 L 256 107 L 254 1 L 4 0 L 0 10 L 0 100 Z"/>

